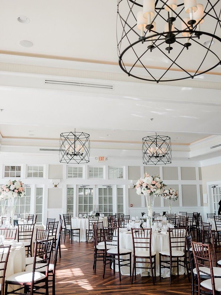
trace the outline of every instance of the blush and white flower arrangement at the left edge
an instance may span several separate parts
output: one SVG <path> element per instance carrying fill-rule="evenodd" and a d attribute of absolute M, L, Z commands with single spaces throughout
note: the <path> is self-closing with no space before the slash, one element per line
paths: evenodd
<path fill-rule="evenodd" d="M 0 186 L 0 199 L 8 200 L 11 198 L 24 197 L 23 183 L 20 180 L 9 180 Z"/>

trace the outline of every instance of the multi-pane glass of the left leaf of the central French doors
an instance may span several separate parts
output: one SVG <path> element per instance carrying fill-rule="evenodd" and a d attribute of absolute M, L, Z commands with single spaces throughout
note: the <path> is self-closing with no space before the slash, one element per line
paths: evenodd
<path fill-rule="evenodd" d="M 93 188 L 78 189 L 78 213 L 93 211 Z"/>

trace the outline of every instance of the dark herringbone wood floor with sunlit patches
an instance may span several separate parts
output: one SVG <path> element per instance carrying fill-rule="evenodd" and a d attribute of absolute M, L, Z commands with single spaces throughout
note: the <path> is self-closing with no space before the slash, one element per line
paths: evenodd
<path fill-rule="evenodd" d="M 62 258 L 58 257 L 56 268 L 56 295 L 175 295 L 191 294 L 191 283 L 186 275 L 173 276 L 172 284 L 169 278 L 156 278 L 153 286 L 151 277 L 137 276 L 131 285 L 129 276 L 122 276 L 119 282 L 118 273 L 106 268 L 103 279 L 103 263 L 98 261 L 96 274 L 93 272 L 93 243 L 72 242 L 66 239 L 62 242 Z M 51 294 L 51 291 L 50 291 Z"/>

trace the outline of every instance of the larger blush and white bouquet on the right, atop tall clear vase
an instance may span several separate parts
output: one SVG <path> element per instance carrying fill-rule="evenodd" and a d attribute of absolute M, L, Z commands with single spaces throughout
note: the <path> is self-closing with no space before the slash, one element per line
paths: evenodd
<path fill-rule="evenodd" d="M 165 186 L 159 175 L 150 176 L 145 172 L 144 177 L 138 179 L 135 189 L 138 195 L 150 194 L 156 197 L 162 195 Z"/>

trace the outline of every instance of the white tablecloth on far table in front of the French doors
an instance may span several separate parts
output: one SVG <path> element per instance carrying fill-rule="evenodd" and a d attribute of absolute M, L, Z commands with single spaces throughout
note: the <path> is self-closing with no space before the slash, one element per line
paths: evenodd
<path fill-rule="evenodd" d="M 99 217 L 98 222 L 103 221 L 103 226 L 107 227 L 108 226 L 108 218 L 107 217 Z M 86 241 L 86 228 L 88 228 L 88 218 L 77 218 L 77 217 L 72 217 L 71 218 L 71 226 L 72 228 L 80 228 L 80 242 L 85 242 Z M 74 241 L 78 241 L 78 237 L 73 237 Z M 90 242 L 93 241 L 92 237 L 89 237 Z"/>

